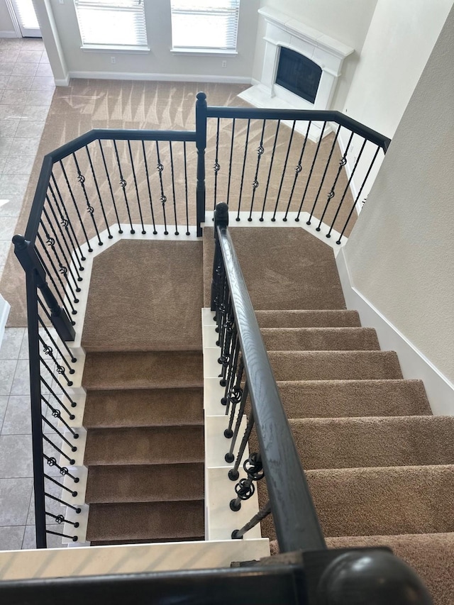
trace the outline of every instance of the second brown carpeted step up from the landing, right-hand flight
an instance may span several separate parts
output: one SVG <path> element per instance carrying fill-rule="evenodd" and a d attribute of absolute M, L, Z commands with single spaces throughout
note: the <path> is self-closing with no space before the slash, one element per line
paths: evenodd
<path fill-rule="evenodd" d="M 373 328 L 261 328 L 268 351 L 380 350 Z"/>

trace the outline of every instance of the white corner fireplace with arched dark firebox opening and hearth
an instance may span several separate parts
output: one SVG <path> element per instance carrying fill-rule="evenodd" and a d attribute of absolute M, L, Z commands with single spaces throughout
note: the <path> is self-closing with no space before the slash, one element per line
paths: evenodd
<path fill-rule="evenodd" d="M 239 95 L 241 99 L 271 109 L 333 109 L 331 101 L 343 60 L 354 49 L 275 9 L 258 12 L 266 21 L 262 76 Z M 304 125 L 301 132 L 302 128 Z M 309 138 L 318 140 L 320 132 L 321 126 L 314 122 Z M 326 128 L 323 135 L 328 132 Z"/>

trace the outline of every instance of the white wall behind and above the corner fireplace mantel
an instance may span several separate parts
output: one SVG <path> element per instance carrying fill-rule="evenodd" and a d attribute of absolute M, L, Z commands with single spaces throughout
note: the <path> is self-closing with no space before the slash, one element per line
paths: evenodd
<path fill-rule="evenodd" d="M 332 101 L 332 109 L 341 111 L 355 73 L 360 51 L 364 43 L 377 0 L 260 0 L 260 7 L 270 7 L 286 13 L 307 26 L 330 35 L 355 48 L 353 55 L 345 59 Z M 265 52 L 265 19 L 260 17 L 253 77 L 260 80 L 262 57 Z"/>

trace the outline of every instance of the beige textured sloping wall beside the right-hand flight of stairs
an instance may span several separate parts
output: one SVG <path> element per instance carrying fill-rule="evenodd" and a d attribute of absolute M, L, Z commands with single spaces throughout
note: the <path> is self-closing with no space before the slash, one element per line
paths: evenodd
<path fill-rule="evenodd" d="M 345 246 L 355 288 L 451 381 L 453 32 L 454 9 Z"/>

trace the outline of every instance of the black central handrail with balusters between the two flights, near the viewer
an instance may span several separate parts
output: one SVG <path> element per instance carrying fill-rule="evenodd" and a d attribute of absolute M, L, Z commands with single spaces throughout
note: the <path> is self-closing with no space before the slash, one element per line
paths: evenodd
<path fill-rule="evenodd" d="M 255 483 L 261 479 L 265 479 L 269 498 L 248 523 L 233 531 L 231 537 L 242 539 L 245 533 L 272 514 L 282 558 L 270 557 L 270 560 L 275 559 L 275 565 L 282 560 L 289 565 L 298 559 L 301 562 L 304 596 L 291 602 L 319 605 L 372 602 L 430 604 L 431 597 L 419 577 L 388 548 L 327 549 L 228 233 L 227 204 L 216 206 L 214 218 L 211 311 L 215 313 L 217 344 L 221 350 L 219 377 L 225 389 L 221 404 L 226 406 L 226 416 L 229 416 L 228 428 L 224 431 L 224 436 L 231 439 L 226 462 L 234 462 L 228 478 L 238 481 L 240 465 L 246 474 L 232 489 L 235 495 L 229 506 L 234 512 L 240 510 L 242 502 L 253 496 Z M 245 417 L 246 427 L 238 447 L 240 427 Z M 253 430 L 257 435 L 258 450 L 251 452 L 256 445 L 251 438 Z M 250 446 L 247 458 L 246 446 Z M 258 565 L 260 572 L 260 562 Z M 407 582 L 413 586 L 409 591 Z"/>

